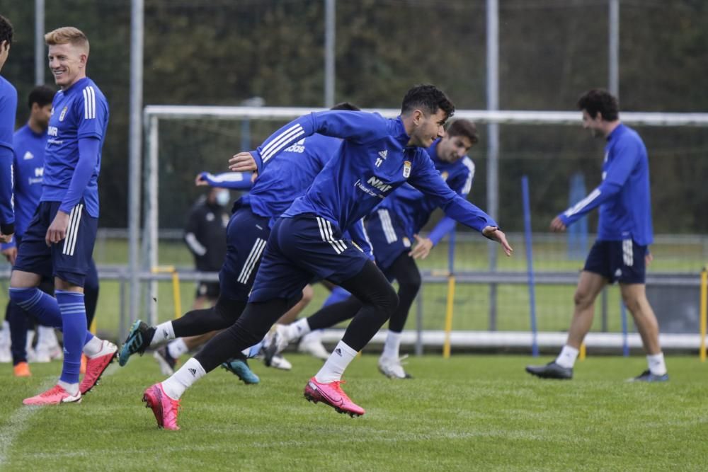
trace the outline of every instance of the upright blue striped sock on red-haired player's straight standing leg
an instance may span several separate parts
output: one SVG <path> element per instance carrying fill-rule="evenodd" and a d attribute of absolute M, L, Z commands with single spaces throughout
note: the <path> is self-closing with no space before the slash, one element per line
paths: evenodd
<path fill-rule="evenodd" d="M 62 332 L 64 333 L 64 367 L 59 379 L 70 385 L 78 384 L 81 354 L 86 344 L 87 332 L 84 294 L 64 290 L 57 290 L 55 293 L 59 310 L 62 312 Z M 66 388 L 64 389 L 66 390 Z"/>

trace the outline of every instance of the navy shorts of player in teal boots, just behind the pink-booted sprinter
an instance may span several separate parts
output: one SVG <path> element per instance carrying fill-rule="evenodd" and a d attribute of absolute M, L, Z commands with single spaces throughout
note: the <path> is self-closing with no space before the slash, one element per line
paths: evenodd
<path fill-rule="evenodd" d="M 268 241 L 270 218 L 253 213 L 248 205 L 235 207 L 226 227 L 226 259 L 219 271 L 221 296 L 247 301 Z"/>

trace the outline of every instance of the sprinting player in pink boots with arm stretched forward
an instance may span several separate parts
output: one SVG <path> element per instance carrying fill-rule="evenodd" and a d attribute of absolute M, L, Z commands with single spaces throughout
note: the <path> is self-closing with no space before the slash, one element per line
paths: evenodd
<path fill-rule="evenodd" d="M 279 129 L 256 151 L 234 156 L 232 171 L 256 168 L 261 172 L 278 161 L 279 151 L 299 139 L 314 133 L 343 139 L 305 195 L 275 221 L 244 313 L 173 376 L 144 392 L 143 399 L 159 425 L 176 429 L 178 399 L 185 389 L 224 359 L 261 340 L 299 299 L 302 287 L 314 279 L 341 285 L 363 306 L 322 369 L 307 383 L 305 396 L 341 413 L 364 413 L 341 389 L 341 376 L 358 350 L 389 318 L 398 297 L 367 254 L 343 238 L 343 231 L 356 226 L 383 198 L 408 181 L 447 214 L 495 239 L 507 254 L 511 251 L 497 224 L 450 190 L 421 149 L 442 137 L 442 127 L 454 110 L 435 86 L 416 86 L 406 93 L 401 115 L 395 119 L 351 111 L 312 113 Z"/>

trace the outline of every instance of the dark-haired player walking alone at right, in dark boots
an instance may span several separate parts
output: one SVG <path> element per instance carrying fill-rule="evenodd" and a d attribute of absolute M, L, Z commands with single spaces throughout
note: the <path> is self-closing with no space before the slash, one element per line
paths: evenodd
<path fill-rule="evenodd" d="M 631 380 L 667 381 L 658 323 L 644 284 L 646 265 L 651 262 L 648 246 L 653 241 L 646 147 L 634 129 L 619 121 L 619 102 L 609 92 L 595 89 L 583 93 L 578 109 L 583 112 L 583 127 L 590 129 L 593 137 L 607 141 L 603 181 L 590 195 L 555 217 L 551 231 L 565 231 L 599 207 L 598 239 L 578 281 L 566 345 L 553 362 L 527 366 L 526 372 L 542 379 L 572 379 L 578 350 L 593 323 L 595 298 L 605 285 L 617 281 L 649 364 L 649 369 Z"/>

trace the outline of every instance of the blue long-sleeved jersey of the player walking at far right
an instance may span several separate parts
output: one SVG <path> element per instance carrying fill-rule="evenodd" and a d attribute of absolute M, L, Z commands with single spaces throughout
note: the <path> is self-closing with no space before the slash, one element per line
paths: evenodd
<path fill-rule="evenodd" d="M 559 217 L 568 226 L 598 206 L 598 241 L 653 242 L 649 158 L 639 134 L 622 124 L 607 137 L 603 183 Z"/>

